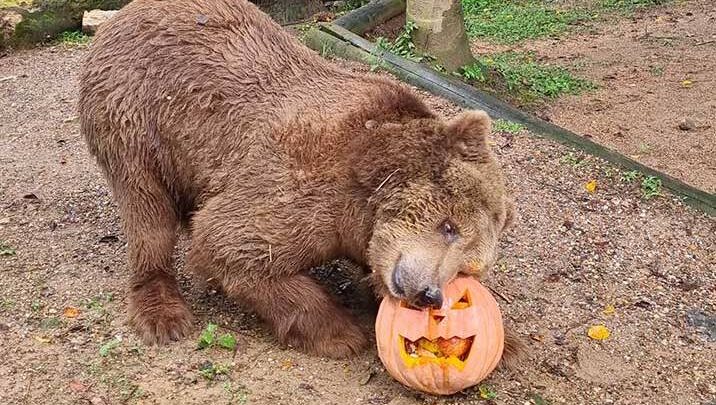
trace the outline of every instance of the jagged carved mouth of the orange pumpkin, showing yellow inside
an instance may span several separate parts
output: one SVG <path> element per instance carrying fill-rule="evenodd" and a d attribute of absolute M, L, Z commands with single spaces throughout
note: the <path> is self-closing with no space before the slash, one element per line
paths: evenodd
<path fill-rule="evenodd" d="M 400 356 L 405 365 L 412 367 L 427 363 L 441 366 L 454 366 L 460 370 L 465 367 L 465 361 L 470 355 L 474 336 L 466 339 L 457 336 L 451 338 L 427 339 L 420 338 L 412 341 L 400 336 Z"/>

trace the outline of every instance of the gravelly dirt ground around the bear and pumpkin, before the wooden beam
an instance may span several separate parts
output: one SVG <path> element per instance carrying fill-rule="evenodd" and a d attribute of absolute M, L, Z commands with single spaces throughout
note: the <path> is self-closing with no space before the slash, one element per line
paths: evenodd
<path fill-rule="evenodd" d="M 58 47 L 0 58 L 0 403 L 716 403 L 716 220 L 670 195 L 644 200 L 613 167 L 525 132 L 491 142 L 518 217 L 485 283 L 509 300 L 499 299 L 505 322 L 531 353 L 484 381 L 492 402 L 477 389 L 444 398 L 406 389 L 374 349 L 333 361 L 281 348 L 254 315 L 183 273 L 194 333 L 143 346 L 124 324 L 117 212 L 76 120 L 84 54 Z M 707 85 L 700 77 L 689 91 Z M 459 111 L 423 96 L 446 117 Z M 181 272 L 181 248 L 177 257 Z M 371 335 L 375 306 L 351 266 L 316 273 Z M 237 337 L 235 353 L 197 350 L 208 322 Z M 595 324 L 611 336 L 590 339 Z M 224 373 L 202 376 L 208 362 Z"/>

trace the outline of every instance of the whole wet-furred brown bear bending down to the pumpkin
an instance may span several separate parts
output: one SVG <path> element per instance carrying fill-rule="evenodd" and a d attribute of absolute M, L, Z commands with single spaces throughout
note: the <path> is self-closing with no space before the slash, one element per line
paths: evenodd
<path fill-rule="evenodd" d="M 490 119 L 437 118 L 393 80 L 341 69 L 244 0 L 135 0 L 97 33 L 80 81 L 89 151 L 128 240 L 129 320 L 185 335 L 172 252 L 279 341 L 343 357 L 364 332 L 306 271 L 348 257 L 376 292 L 442 303 L 495 260 L 512 208 Z"/>

